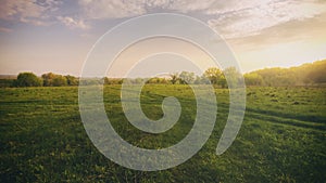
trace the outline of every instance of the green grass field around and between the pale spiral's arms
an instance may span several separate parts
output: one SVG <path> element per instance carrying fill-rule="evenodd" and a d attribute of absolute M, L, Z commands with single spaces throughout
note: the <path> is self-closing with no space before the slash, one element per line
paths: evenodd
<path fill-rule="evenodd" d="M 142 172 L 100 154 L 78 112 L 78 88 L 0 89 L 0 182 L 325 182 L 326 88 L 248 88 L 247 112 L 234 144 L 215 149 L 228 115 L 228 90 L 216 89 L 218 115 L 203 148 L 175 168 Z M 183 112 L 162 134 L 137 130 L 123 115 L 120 86 L 104 88 L 108 117 L 129 143 L 163 148 L 191 129 L 196 101 L 187 86 L 148 84 L 141 105 L 149 118 L 162 117 L 164 96 Z"/>

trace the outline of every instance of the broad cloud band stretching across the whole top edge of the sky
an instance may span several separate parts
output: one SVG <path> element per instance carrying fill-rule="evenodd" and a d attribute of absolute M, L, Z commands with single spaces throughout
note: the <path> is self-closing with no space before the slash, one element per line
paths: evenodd
<path fill-rule="evenodd" d="M 323 0 L 1 0 L 0 18 L 34 25 L 60 22 L 87 29 L 93 19 L 123 18 L 158 12 L 196 14 L 227 39 L 315 17 L 326 12 Z M 66 5 L 66 6 L 65 6 Z M 74 6 L 78 5 L 78 6 Z M 53 13 L 55 12 L 55 13 Z"/>

